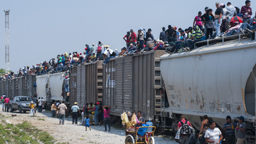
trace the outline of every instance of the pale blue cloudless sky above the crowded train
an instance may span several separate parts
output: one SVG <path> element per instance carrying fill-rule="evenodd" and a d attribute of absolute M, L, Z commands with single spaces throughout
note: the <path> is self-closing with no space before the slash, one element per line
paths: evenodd
<path fill-rule="evenodd" d="M 240 9 L 245 5 L 243 0 L 219 2 Z M 210 0 L 1 0 L 0 68 L 5 68 L 5 9 L 10 10 L 10 70 L 17 72 L 57 54 L 83 52 L 85 44 L 98 41 L 121 50 L 126 46 L 122 37 L 130 29 L 151 28 L 158 39 L 163 26 L 191 26 L 206 6 L 216 9 Z M 253 1 L 251 7 L 254 15 Z"/>

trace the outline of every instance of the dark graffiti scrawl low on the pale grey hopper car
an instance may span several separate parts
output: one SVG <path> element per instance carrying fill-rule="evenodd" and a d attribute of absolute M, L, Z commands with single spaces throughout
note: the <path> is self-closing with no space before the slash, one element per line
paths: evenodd
<path fill-rule="evenodd" d="M 225 113 L 225 112 L 229 112 L 229 113 L 233 113 L 233 105 L 228 103 L 228 102 L 222 102 L 219 103 L 219 101 L 217 100 L 217 102 L 215 100 L 213 100 L 212 102 L 209 102 L 209 107 L 211 112 L 213 111 L 217 111 L 217 113 Z"/>

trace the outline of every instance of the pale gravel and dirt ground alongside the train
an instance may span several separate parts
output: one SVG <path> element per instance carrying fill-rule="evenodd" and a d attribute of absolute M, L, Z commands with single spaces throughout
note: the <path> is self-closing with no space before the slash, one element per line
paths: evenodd
<path fill-rule="evenodd" d="M 35 117 L 27 113 L 0 113 L 6 116 L 6 120 L 18 124 L 24 120 L 28 120 L 37 129 L 47 131 L 52 135 L 57 142 L 66 142 L 70 144 L 124 144 L 125 131 L 122 128 L 111 127 L 110 132 L 104 131 L 104 126 L 91 126 L 91 131 L 81 125 L 81 118 L 78 118 L 78 125 L 72 124 L 72 118 L 66 118 L 64 125 L 59 125 L 58 118 L 51 118 L 50 111 L 36 113 Z M 11 114 L 17 114 L 12 117 Z M 169 137 L 155 137 L 156 144 L 177 144 L 174 140 L 169 140 Z"/>

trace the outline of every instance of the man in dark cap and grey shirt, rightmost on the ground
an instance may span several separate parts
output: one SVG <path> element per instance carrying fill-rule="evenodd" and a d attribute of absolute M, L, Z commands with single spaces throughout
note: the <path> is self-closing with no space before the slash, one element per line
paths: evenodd
<path fill-rule="evenodd" d="M 244 122 L 245 118 L 243 116 L 239 116 L 237 127 L 239 130 L 237 131 L 237 142 L 236 144 L 245 144 L 245 132 L 246 132 L 246 124 Z"/>

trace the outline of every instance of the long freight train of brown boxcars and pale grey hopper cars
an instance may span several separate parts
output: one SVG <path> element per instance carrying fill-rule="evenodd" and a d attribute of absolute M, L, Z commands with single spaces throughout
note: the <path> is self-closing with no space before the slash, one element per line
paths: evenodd
<path fill-rule="evenodd" d="M 109 105 L 111 118 L 120 123 L 124 111 L 142 111 L 152 119 L 157 132 L 177 129 L 183 114 L 200 129 L 203 115 L 222 128 L 226 116 L 244 116 L 247 144 L 255 143 L 256 128 L 256 41 L 239 36 L 197 42 L 191 52 L 166 54 L 153 50 L 128 57 L 116 57 L 73 66 L 69 72 L 26 76 L 0 82 L 7 96 L 37 96 L 48 102 L 65 100 L 63 75 L 70 77 L 70 106 L 78 102 Z M 169 107 L 165 108 L 159 88 L 165 85 Z"/>

